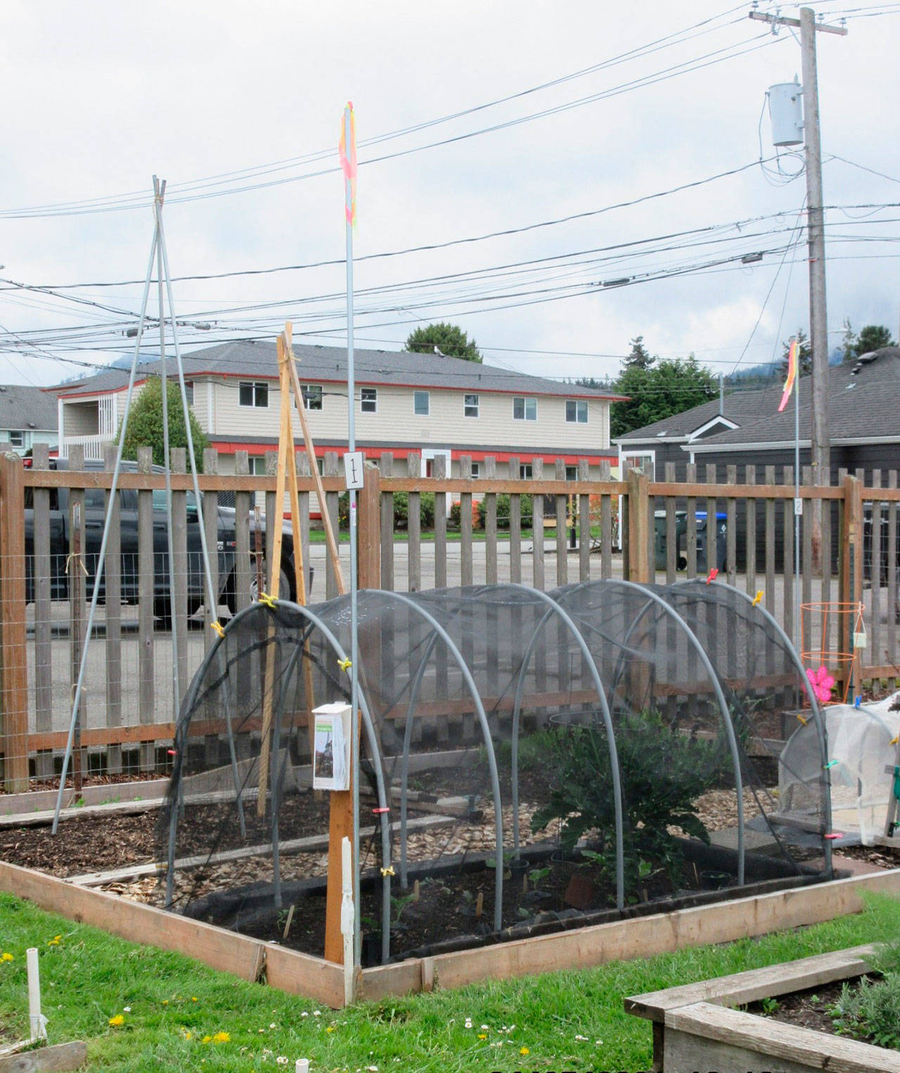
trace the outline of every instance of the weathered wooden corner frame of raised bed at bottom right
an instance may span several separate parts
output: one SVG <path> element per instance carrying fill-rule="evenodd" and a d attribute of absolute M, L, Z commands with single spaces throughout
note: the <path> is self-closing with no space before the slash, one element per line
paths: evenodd
<path fill-rule="evenodd" d="M 698 984 L 624 1000 L 625 1010 L 653 1023 L 653 1070 L 779 1070 L 807 1073 L 900 1073 L 900 1053 L 843 1035 L 735 1009 L 823 985 L 858 980 L 870 970 L 872 946 L 818 954 Z"/>

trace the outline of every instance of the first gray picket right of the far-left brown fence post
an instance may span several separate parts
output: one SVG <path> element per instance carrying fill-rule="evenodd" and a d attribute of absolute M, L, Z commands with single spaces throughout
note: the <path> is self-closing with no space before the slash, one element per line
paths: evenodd
<path fill-rule="evenodd" d="M 31 465 L 35 469 L 49 469 L 49 447 L 35 443 Z M 53 729 L 53 645 L 50 640 L 50 571 L 58 563 L 50 563 L 50 491 L 33 490 L 34 503 L 34 558 L 31 577 L 34 588 L 34 726 L 39 731 Z M 108 703 L 108 702 L 107 702 Z M 53 755 L 38 754 L 34 774 L 39 778 L 53 776 Z"/>

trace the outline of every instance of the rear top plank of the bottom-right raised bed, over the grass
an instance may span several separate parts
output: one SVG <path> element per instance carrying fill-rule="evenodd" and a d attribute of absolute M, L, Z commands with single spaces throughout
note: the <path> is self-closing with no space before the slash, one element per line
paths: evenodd
<path fill-rule="evenodd" d="M 861 976 L 870 971 L 866 959 L 874 950 L 874 943 L 867 943 L 827 954 L 813 954 L 811 957 L 782 961 L 780 965 L 767 965 L 762 969 L 748 969 L 727 976 L 702 980 L 696 984 L 633 995 L 622 1002 L 626 1013 L 648 1020 L 662 1020 L 668 1010 L 692 1005 L 694 1002 L 747 1005 L 758 1002 L 759 999 L 820 987 L 845 976 Z"/>

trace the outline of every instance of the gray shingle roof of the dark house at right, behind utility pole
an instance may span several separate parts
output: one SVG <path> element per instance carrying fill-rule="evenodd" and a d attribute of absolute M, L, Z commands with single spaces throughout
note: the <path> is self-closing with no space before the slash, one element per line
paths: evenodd
<path fill-rule="evenodd" d="M 866 361 L 831 366 L 828 374 L 828 420 L 832 441 L 900 438 L 900 348 L 883 347 Z M 783 384 L 755 391 L 737 391 L 725 396 L 724 415 L 738 425 L 735 429 L 696 440 L 697 452 L 724 446 L 774 445 L 794 442 L 794 398 L 778 412 Z M 812 379 L 797 382 L 800 403 L 800 439 L 810 438 L 810 393 Z M 687 438 L 719 412 L 719 400 L 710 400 L 683 413 L 636 428 L 620 437 L 623 443 L 656 439 Z M 660 437 L 659 439 L 662 439 Z M 616 442 L 619 442 L 617 440 Z"/>

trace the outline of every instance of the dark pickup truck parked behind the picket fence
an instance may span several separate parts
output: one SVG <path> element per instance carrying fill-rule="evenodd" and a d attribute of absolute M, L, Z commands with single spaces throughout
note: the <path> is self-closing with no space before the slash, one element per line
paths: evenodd
<path fill-rule="evenodd" d="M 51 458 L 51 469 L 67 469 L 65 458 Z M 85 469 L 100 470 L 99 461 L 86 461 Z M 122 470 L 135 472 L 135 462 L 122 462 Z M 154 467 L 154 472 L 163 470 Z M 67 561 L 70 552 L 70 500 L 69 488 L 50 488 L 50 599 L 65 600 L 69 596 L 69 574 Z M 26 601 L 34 600 L 34 501 L 33 488 L 25 490 L 25 555 L 26 555 Z M 158 618 L 168 621 L 169 618 L 169 583 L 168 583 L 168 538 L 166 527 L 165 491 L 153 490 L 153 613 Z M 100 544 L 103 539 L 105 521 L 105 491 L 103 488 L 87 488 L 85 490 L 85 547 L 83 548 L 85 576 L 85 592 L 90 599 L 97 575 L 97 563 L 100 557 Z M 200 540 L 200 523 L 196 500 L 192 491 L 187 493 L 188 515 L 188 614 L 193 615 L 205 600 L 205 583 L 203 577 L 203 554 Z M 237 585 L 235 572 L 235 511 L 227 506 L 218 508 L 218 539 L 216 546 L 209 548 L 212 556 L 219 557 L 219 602 L 225 603 L 234 613 L 237 606 Z M 134 488 L 119 489 L 119 518 L 121 533 L 121 592 L 126 603 L 137 603 L 137 491 Z M 263 541 L 265 546 L 265 541 Z M 250 517 L 250 590 L 255 599 L 257 573 L 255 562 L 255 519 Z M 262 564 L 262 576 L 266 578 L 268 571 Z M 101 578 L 100 599 L 105 596 L 105 571 Z M 267 584 L 267 583 L 266 583 Z M 294 545 L 290 528 L 285 527 L 282 535 L 281 579 L 279 597 L 283 600 L 295 599 L 294 583 Z"/>

